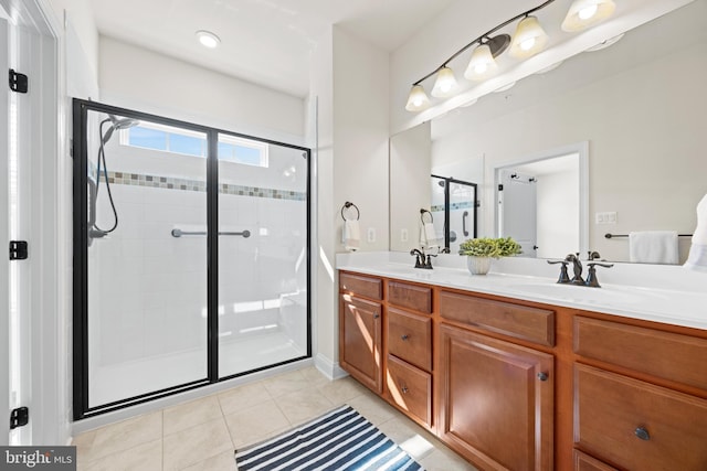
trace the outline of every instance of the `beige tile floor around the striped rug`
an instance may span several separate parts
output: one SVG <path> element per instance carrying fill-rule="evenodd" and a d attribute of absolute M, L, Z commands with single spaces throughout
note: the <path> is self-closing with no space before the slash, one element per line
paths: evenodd
<path fill-rule="evenodd" d="M 349 404 L 429 471 L 475 470 L 393 407 L 347 377 L 285 373 L 74 437 L 78 470 L 235 471 L 233 450 Z"/>

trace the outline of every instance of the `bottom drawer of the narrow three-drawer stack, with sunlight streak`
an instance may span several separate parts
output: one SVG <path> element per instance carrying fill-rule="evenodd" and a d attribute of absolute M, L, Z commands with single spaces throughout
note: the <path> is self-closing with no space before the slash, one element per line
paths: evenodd
<path fill-rule="evenodd" d="M 388 355 L 388 396 L 409 415 L 432 426 L 432 376 Z"/>

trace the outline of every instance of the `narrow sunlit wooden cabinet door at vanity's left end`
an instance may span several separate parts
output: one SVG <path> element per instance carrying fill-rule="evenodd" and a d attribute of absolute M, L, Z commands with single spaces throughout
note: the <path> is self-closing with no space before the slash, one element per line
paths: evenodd
<path fill-rule="evenodd" d="M 339 363 L 356 379 L 382 393 L 382 349 L 379 302 L 341 295 L 339 313 Z"/>

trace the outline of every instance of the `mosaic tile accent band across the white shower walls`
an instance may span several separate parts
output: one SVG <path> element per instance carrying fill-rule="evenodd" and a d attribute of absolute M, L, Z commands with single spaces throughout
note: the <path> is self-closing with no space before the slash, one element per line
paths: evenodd
<path fill-rule="evenodd" d="M 148 186 L 180 191 L 207 191 L 207 182 L 202 180 L 178 179 L 172 176 L 144 175 L 140 173 L 108 171 L 108 183 L 133 186 Z M 273 200 L 306 201 L 306 192 L 289 190 L 265 189 L 260 186 L 233 185 L 221 183 L 219 193 L 238 196 L 268 197 Z"/>

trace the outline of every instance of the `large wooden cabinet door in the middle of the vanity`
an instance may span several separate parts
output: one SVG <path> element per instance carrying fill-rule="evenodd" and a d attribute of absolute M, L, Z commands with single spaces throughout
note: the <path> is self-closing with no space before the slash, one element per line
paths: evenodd
<path fill-rule="evenodd" d="M 483 469 L 552 469 L 553 357 L 440 329 L 439 433 Z"/>

